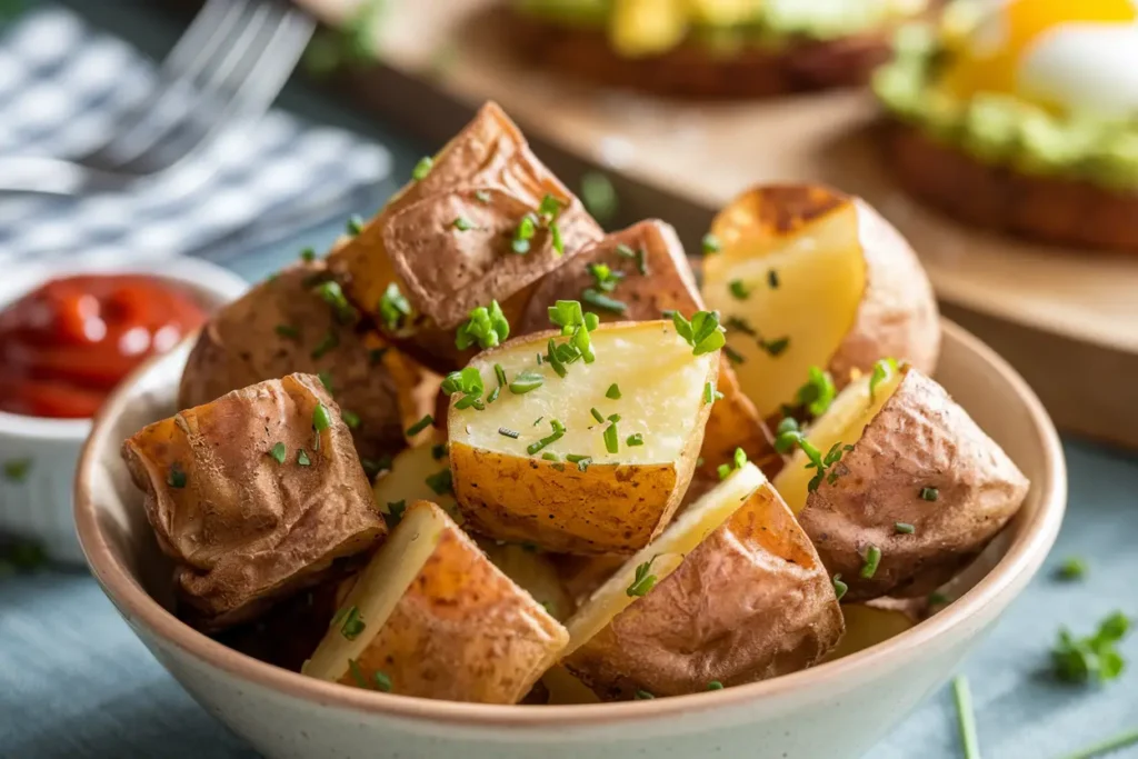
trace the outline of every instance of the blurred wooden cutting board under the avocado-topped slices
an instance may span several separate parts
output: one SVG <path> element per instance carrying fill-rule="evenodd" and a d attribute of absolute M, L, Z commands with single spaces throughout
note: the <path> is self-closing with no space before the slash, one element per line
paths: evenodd
<path fill-rule="evenodd" d="M 330 26 L 358 3 L 297 1 Z M 382 65 L 333 83 L 437 142 L 496 100 L 570 185 L 607 170 L 618 222 L 659 216 L 692 250 L 714 212 L 757 182 L 860 195 L 913 242 L 945 312 L 1016 365 L 1061 427 L 1138 447 L 1138 257 L 993 237 L 910 201 L 885 171 L 866 93 L 692 104 L 599 90 L 528 71 L 502 13 L 494 0 L 387 0 L 374 28 Z"/>

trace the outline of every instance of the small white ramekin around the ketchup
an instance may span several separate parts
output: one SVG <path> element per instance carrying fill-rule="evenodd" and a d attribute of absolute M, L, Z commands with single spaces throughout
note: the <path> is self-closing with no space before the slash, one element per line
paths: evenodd
<path fill-rule="evenodd" d="M 176 282 L 207 312 L 244 292 L 237 274 L 198 258 L 166 258 L 138 265 L 31 264 L 0 279 L 0 308 L 57 277 L 84 273 L 149 274 Z M 52 559 L 83 562 L 75 539 L 72 484 L 89 419 L 44 419 L 0 411 L 0 463 L 31 463 L 22 478 L 0 476 L 0 534 L 32 538 Z"/>

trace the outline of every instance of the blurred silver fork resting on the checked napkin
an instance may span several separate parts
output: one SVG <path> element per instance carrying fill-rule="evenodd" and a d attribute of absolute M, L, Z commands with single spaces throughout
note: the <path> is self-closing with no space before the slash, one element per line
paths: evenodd
<path fill-rule="evenodd" d="M 181 164 L 269 109 L 314 26 L 282 0 L 207 0 L 106 142 L 72 158 L 0 156 L 0 192 L 124 190 Z"/>

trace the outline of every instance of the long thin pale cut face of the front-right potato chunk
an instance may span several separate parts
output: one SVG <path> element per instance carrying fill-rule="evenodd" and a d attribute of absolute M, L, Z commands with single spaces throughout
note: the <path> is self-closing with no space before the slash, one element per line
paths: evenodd
<path fill-rule="evenodd" d="M 568 657 L 580 647 L 604 629 L 613 617 L 636 601 L 638 596 L 629 596 L 627 591 L 636 578 L 636 568 L 640 564 L 651 561 L 651 574 L 655 575 L 657 584 L 661 583 L 679 567 L 685 555 L 731 519 L 747 498 L 766 481 L 762 472 L 748 462 L 717 488 L 693 503 L 659 538 L 626 561 L 593 593 L 577 613 L 569 618 L 566 622 L 569 629 L 569 646 L 562 657 Z"/>

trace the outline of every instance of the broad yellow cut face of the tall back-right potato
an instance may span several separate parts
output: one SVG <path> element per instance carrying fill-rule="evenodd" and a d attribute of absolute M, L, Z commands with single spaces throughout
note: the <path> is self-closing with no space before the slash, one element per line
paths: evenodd
<path fill-rule="evenodd" d="M 793 401 L 810 366 L 830 364 L 853 327 L 866 289 L 857 209 L 848 205 L 773 249 L 756 242 L 740 245 L 753 249 L 724 251 L 731 261 L 708 267 L 703 298 L 709 308 L 719 311 L 727 325 L 727 344 L 743 356 L 734 368 L 743 391 L 767 418 Z M 777 288 L 769 284 L 772 271 L 777 274 Z M 750 291 L 747 298 L 732 294 L 735 280 Z M 732 317 L 758 336 L 732 329 Z M 790 343 L 773 356 L 758 338 L 789 338 Z"/>

